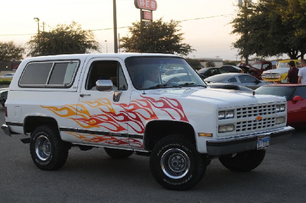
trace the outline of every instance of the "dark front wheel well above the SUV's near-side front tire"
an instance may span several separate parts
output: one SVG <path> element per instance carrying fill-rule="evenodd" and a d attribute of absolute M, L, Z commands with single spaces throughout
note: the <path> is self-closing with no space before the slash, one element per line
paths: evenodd
<path fill-rule="evenodd" d="M 151 151 L 155 144 L 170 134 L 183 134 L 195 142 L 193 127 L 180 121 L 151 121 L 144 131 L 144 148 Z"/>

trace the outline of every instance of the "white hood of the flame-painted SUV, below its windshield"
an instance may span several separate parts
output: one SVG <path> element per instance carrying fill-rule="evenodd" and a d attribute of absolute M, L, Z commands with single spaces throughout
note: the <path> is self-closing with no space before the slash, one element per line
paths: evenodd
<path fill-rule="evenodd" d="M 253 96 L 250 92 L 213 88 L 158 89 L 147 91 L 146 95 L 151 95 L 152 97 L 175 98 L 179 101 L 187 100 L 186 102 L 188 102 L 189 105 L 198 105 L 200 102 L 203 105 L 216 105 L 218 108 L 286 101 L 284 97 L 272 95 Z"/>

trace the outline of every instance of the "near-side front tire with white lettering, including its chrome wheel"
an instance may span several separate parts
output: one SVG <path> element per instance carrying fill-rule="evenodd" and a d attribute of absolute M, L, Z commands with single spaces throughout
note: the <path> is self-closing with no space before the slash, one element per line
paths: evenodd
<path fill-rule="evenodd" d="M 195 143 L 183 135 L 164 137 L 151 152 L 150 169 L 153 177 L 170 190 L 187 190 L 196 185 L 206 171 L 206 162 Z"/>

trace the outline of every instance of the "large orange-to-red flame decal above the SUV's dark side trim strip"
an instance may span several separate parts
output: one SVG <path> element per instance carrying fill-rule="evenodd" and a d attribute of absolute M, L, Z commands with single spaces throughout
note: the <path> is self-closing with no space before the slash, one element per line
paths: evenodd
<path fill-rule="evenodd" d="M 80 104 L 66 104 L 62 107 L 42 106 L 60 117 L 72 119 L 82 128 L 105 128 L 111 132 L 126 131 L 128 125 L 136 133 L 144 133 L 145 122 L 159 119 L 157 111 L 166 112 L 171 120 L 186 121 L 188 119 L 183 107 L 176 99 L 161 97 L 158 100 L 141 96 L 142 99 L 132 100 L 130 104 L 115 103 L 106 98 L 85 101 Z M 113 105 L 121 107 L 116 112 Z M 82 109 L 82 110 L 80 110 Z M 99 109 L 100 113 L 90 114 L 90 110 Z M 96 112 L 96 110 L 94 110 Z M 78 114 L 78 118 L 77 117 Z"/>

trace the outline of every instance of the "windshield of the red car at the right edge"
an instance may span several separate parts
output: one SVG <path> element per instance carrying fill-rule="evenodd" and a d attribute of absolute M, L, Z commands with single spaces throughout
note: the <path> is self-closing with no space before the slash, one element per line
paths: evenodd
<path fill-rule="evenodd" d="M 256 89 L 255 92 L 258 94 L 282 96 L 288 101 L 291 98 L 294 89 L 295 86 L 261 86 Z"/>

